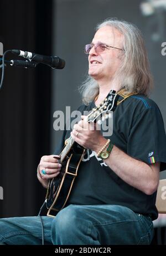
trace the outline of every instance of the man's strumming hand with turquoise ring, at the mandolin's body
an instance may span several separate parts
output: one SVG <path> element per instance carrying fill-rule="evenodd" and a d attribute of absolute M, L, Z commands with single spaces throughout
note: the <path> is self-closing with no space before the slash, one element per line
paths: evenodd
<path fill-rule="evenodd" d="M 42 183 L 44 187 L 48 186 L 50 178 L 54 178 L 59 175 L 61 164 L 58 163 L 58 155 L 42 156 L 40 163 L 38 165 L 38 180 Z M 43 173 L 45 171 L 45 174 Z"/>

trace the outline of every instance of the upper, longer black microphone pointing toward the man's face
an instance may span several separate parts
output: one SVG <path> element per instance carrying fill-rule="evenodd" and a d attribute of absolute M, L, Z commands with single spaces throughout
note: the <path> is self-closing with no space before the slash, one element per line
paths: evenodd
<path fill-rule="evenodd" d="M 34 62 L 42 63 L 50 66 L 53 69 L 63 69 L 65 66 L 65 60 L 60 59 L 58 56 L 45 56 L 30 52 L 24 52 L 23 50 L 12 50 L 12 53 L 24 57 Z"/>

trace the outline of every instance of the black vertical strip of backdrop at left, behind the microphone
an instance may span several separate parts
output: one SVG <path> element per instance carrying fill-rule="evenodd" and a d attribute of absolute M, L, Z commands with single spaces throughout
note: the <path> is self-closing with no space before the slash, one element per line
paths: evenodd
<path fill-rule="evenodd" d="M 51 55 L 52 1 L 0 2 L 4 51 L 22 49 Z M 7 59 L 17 59 L 8 54 Z M 40 157 L 50 151 L 51 70 L 7 66 L 0 91 L 0 216 L 34 215 L 45 190 L 37 181 Z"/>

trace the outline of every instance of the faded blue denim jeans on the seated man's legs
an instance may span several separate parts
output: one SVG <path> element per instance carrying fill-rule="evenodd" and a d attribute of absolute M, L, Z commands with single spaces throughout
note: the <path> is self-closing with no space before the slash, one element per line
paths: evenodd
<path fill-rule="evenodd" d="M 151 218 L 116 205 L 71 204 L 42 219 L 45 244 L 150 244 L 154 234 Z M 39 217 L 0 219 L 0 243 L 42 244 Z"/>

